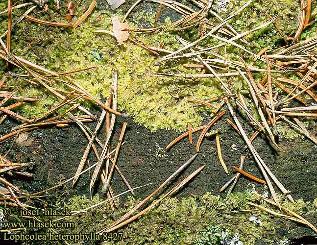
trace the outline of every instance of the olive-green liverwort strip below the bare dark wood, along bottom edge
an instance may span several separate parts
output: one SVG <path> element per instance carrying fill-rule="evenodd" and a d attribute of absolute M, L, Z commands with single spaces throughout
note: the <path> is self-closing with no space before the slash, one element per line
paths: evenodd
<path fill-rule="evenodd" d="M 290 203 L 284 196 L 279 196 L 283 206 L 303 215 L 311 217 L 316 212 L 316 202 L 304 202 L 299 199 L 294 204 Z M 119 199 L 118 199 L 119 200 Z M 63 208 L 78 211 L 101 201 L 96 195 L 93 200 L 86 196 L 74 196 Z M 181 200 L 177 198 L 166 198 L 160 205 L 148 211 L 141 218 L 118 230 L 123 232 L 122 241 L 104 241 L 102 244 L 119 245 L 168 245 L 168 244 L 199 244 L 206 234 L 217 237 L 219 229 L 225 231 L 226 237 L 232 239 L 239 234 L 239 241 L 244 245 L 258 244 L 259 241 L 266 244 L 278 244 L 281 240 L 290 239 L 294 223 L 274 218 L 268 213 L 260 211 L 235 212 L 253 209 L 247 204 L 248 201 L 255 202 L 271 210 L 279 212 L 273 206 L 259 200 L 259 197 L 251 191 L 231 194 L 221 198 L 210 193 L 204 196 L 188 197 Z M 140 199 L 129 196 L 124 205 L 111 212 L 108 204 L 99 205 L 78 216 L 66 218 L 64 221 L 74 222 L 74 229 L 59 229 L 60 234 L 89 234 L 97 232 L 119 219 L 123 214 L 133 208 Z M 256 223 L 250 221 L 253 216 Z M 59 217 L 51 217 L 54 220 Z M 310 220 L 309 218 L 307 218 Z M 297 226 L 297 224 L 295 224 Z M 211 227 L 219 227 L 215 233 L 211 233 Z M 305 228 L 307 233 L 312 233 Z M 70 244 L 84 244 L 72 243 Z M 208 243 L 204 243 L 208 244 Z M 213 243 L 210 243 L 213 244 Z"/>

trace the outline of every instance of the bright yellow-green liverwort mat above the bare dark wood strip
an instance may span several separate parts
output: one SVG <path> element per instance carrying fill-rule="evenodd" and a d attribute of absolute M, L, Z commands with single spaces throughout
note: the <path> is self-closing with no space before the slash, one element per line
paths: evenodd
<path fill-rule="evenodd" d="M 76 1 L 77 13 L 84 12 L 89 5 L 89 1 Z M 228 13 L 237 10 L 244 4 L 244 1 L 232 0 L 228 5 L 227 13 L 220 13 L 226 17 Z M 5 7 L 4 3 L 1 6 Z M 241 14 L 231 21 L 237 31 L 244 32 L 254 28 L 268 20 L 265 13 L 268 12 L 274 16 L 279 14 L 278 24 L 282 31 L 288 35 L 295 30 L 298 22 L 299 5 L 296 2 L 288 0 L 270 2 L 270 8 L 267 9 L 268 0 L 256 1 L 248 6 Z M 272 6 L 271 6 L 272 5 Z M 54 4 L 50 4 L 52 9 L 47 14 L 41 14 L 41 19 L 55 22 L 65 22 L 66 10 L 62 9 L 58 13 Z M 312 18 L 316 11 L 312 13 Z M 19 16 L 22 10 L 15 10 L 14 15 Z M 94 23 L 95 18 L 101 15 L 102 20 Z M 149 24 L 154 22 L 155 14 L 141 13 L 135 15 L 129 25 L 136 27 L 140 18 L 146 20 Z M 6 15 L 0 16 L 0 30 L 6 29 Z M 215 18 L 212 19 L 218 23 Z M 169 25 L 167 19 L 164 25 Z M 202 106 L 196 106 L 187 102 L 187 98 L 209 99 L 223 95 L 223 90 L 219 82 L 214 78 L 195 78 L 188 79 L 182 77 L 153 77 L 147 73 L 199 73 L 200 69 L 187 69 L 183 63 L 189 63 L 188 60 L 175 60 L 163 62 L 160 66 L 155 66 L 157 57 L 148 53 L 145 49 L 127 42 L 125 47 L 118 47 L 116 40 L 107 35 L 93 33 L 96 29 L 112 30 L 111 13 L 107 11 L 94 11 L 93 14 L 76 30 L 72 31 L 66 28 L 56 28 L 26 22 L 25 20 L 15 27 L 12 39 L 12 53 L 24 57 L 38 65 L 54 72 L 67 72 L 84 69 L 97 65 L 99 68 L 95 71 L 74 75 L 73 78 L 85 87 L 88 92 L 97 98 L 106 98 L 109 94 L 112 82 L 112 73 L 114 68 L 118 68 L 119 74 L 119 109 L 126 111 L 136 123 L 142 124 L 151 131 L 165 128 L 175 131 L 183 131 L 187 124 L 193 127 L 200 125 L 204 115 L 210 114 L 211 110 Z M 302 38 L 313 35 L 316 25 L 307 28 L 302 34 Z M 147 46 L 157 47 L 159 43 L 164 43 L 164 48 L 176 50 L 180 44 L 175 39 L 172 31 L 157 33 L 153 35 L 132 34 L 132 38 L 139 40 Z M 187 40 L 193 41 L 198 38 L 195 28 L 185 32 L 177 33 Z M 254 53 L 270 45 L 273 48 L 282 45 L 282 39 L 273 25 L 251 33 L 245 39 L 250 43 L 249 50 Z M 201 45 L 211 47 L 218 44 L 218 41 L 206 38 Z M 224 55 L 223 49 L 220 54 Z M 239 55 L 244 55 L 231 45 L 227 45 L 229 59 L 239 60 Z M 246 57 L 249 59 L 249 57 Z M 1 64 L 4 64 L 0 61 Z M 265 68 L 264 62 L 258 62 L 257 65 Z M 4 66 L 2 66 L 4 67 Z M 4 69 L 0 71 L 3 74 Z M 260 80 L 263 75 L 255 74 L 255 79 Z M 276 74 L 273 74 L 273 78 Z M 298 80 L 298 78 L 294 78 Z M 226 79 L 224 79 L 226 80 Z M 8 84 L 21 84 L 21 81 L 10 79 Z M 65 89 L 62 84 L 56 84 L 58 88 Z M 248 89 L 241 77 L 234 77 L 231 89 L 234 92 L 239 91 L 245 96 L 248 95 Z M 279 91 L 274 87 L 274 92 Z M 39 97 L 40 101 L 34 104 L 25 105 L 22 110 L 24 115 L 32 117 L 47 111 L 57 102 L 53 95 L 48 94 L 41 88 L 34 88 L 31 85 L 24 85 L 22 96 Z M 85 107 L 90 107 L 86 101 L 82 101 Z M 254 107 L 250 104 L 251 109 Z M 252 112 L 255 112 L 252 109 Z M 281 133 L 281 132 L 280 132 Z M 282 134 L 282 133 L 281 133 Z M 284 134 L 287 135 L 287 134 Z"/>

